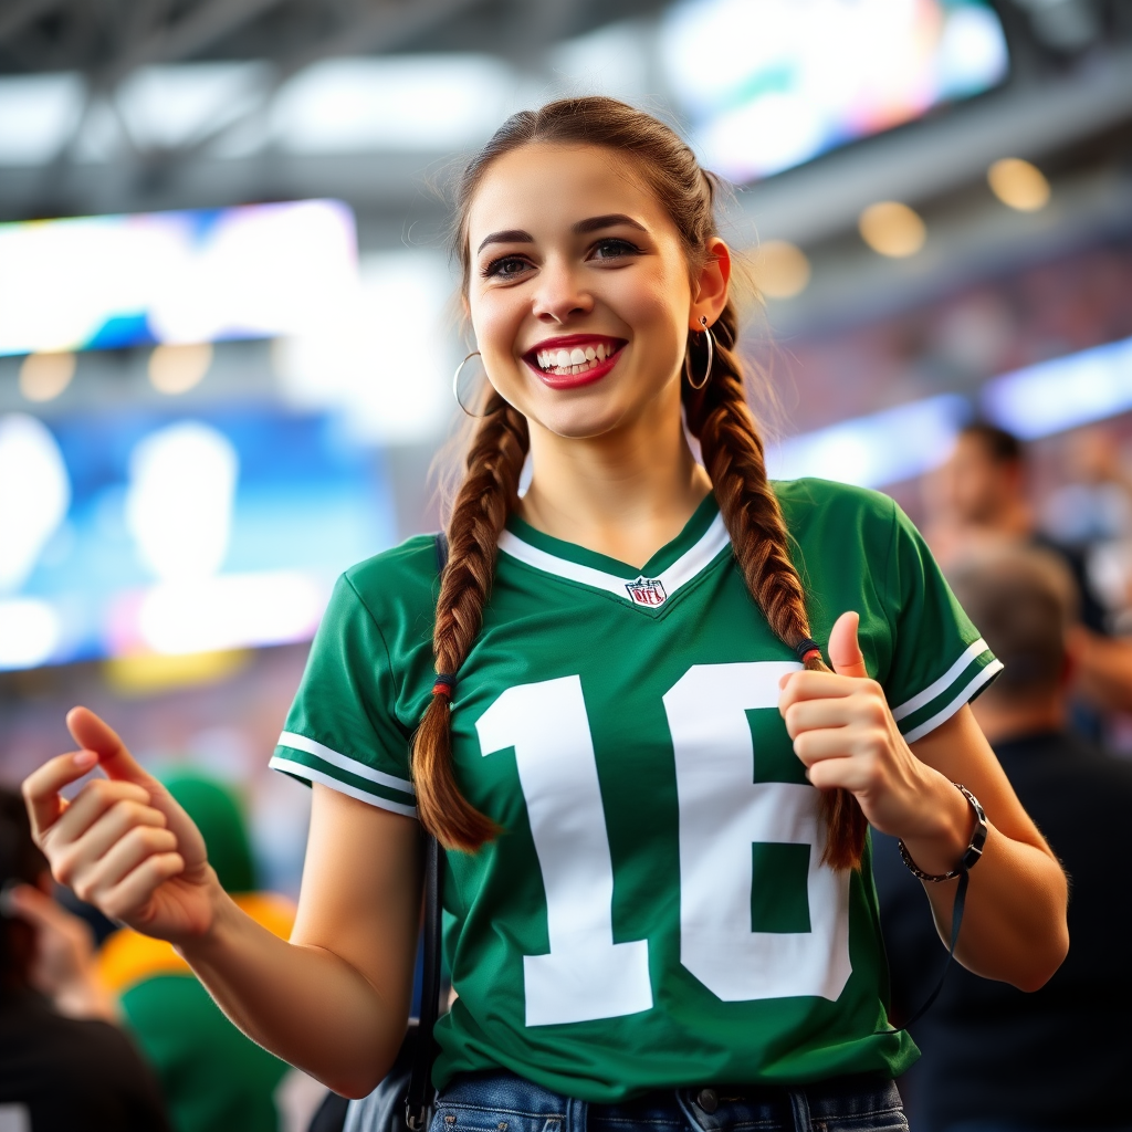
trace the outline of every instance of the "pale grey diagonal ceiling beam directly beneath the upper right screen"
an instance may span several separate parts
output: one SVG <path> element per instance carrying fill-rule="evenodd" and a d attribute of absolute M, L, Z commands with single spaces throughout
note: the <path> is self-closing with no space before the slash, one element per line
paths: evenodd
<path fill-rule="evenodd" d="M 878 200 L 931 200 L 979 182 L 1000 157 L 1040 162 L 1126 121 L 1132 51 L 1123 49 L 1072 77 L 1019 84 L 744 189 L 732 238 L 813 245 L 851 231 Z"/>

